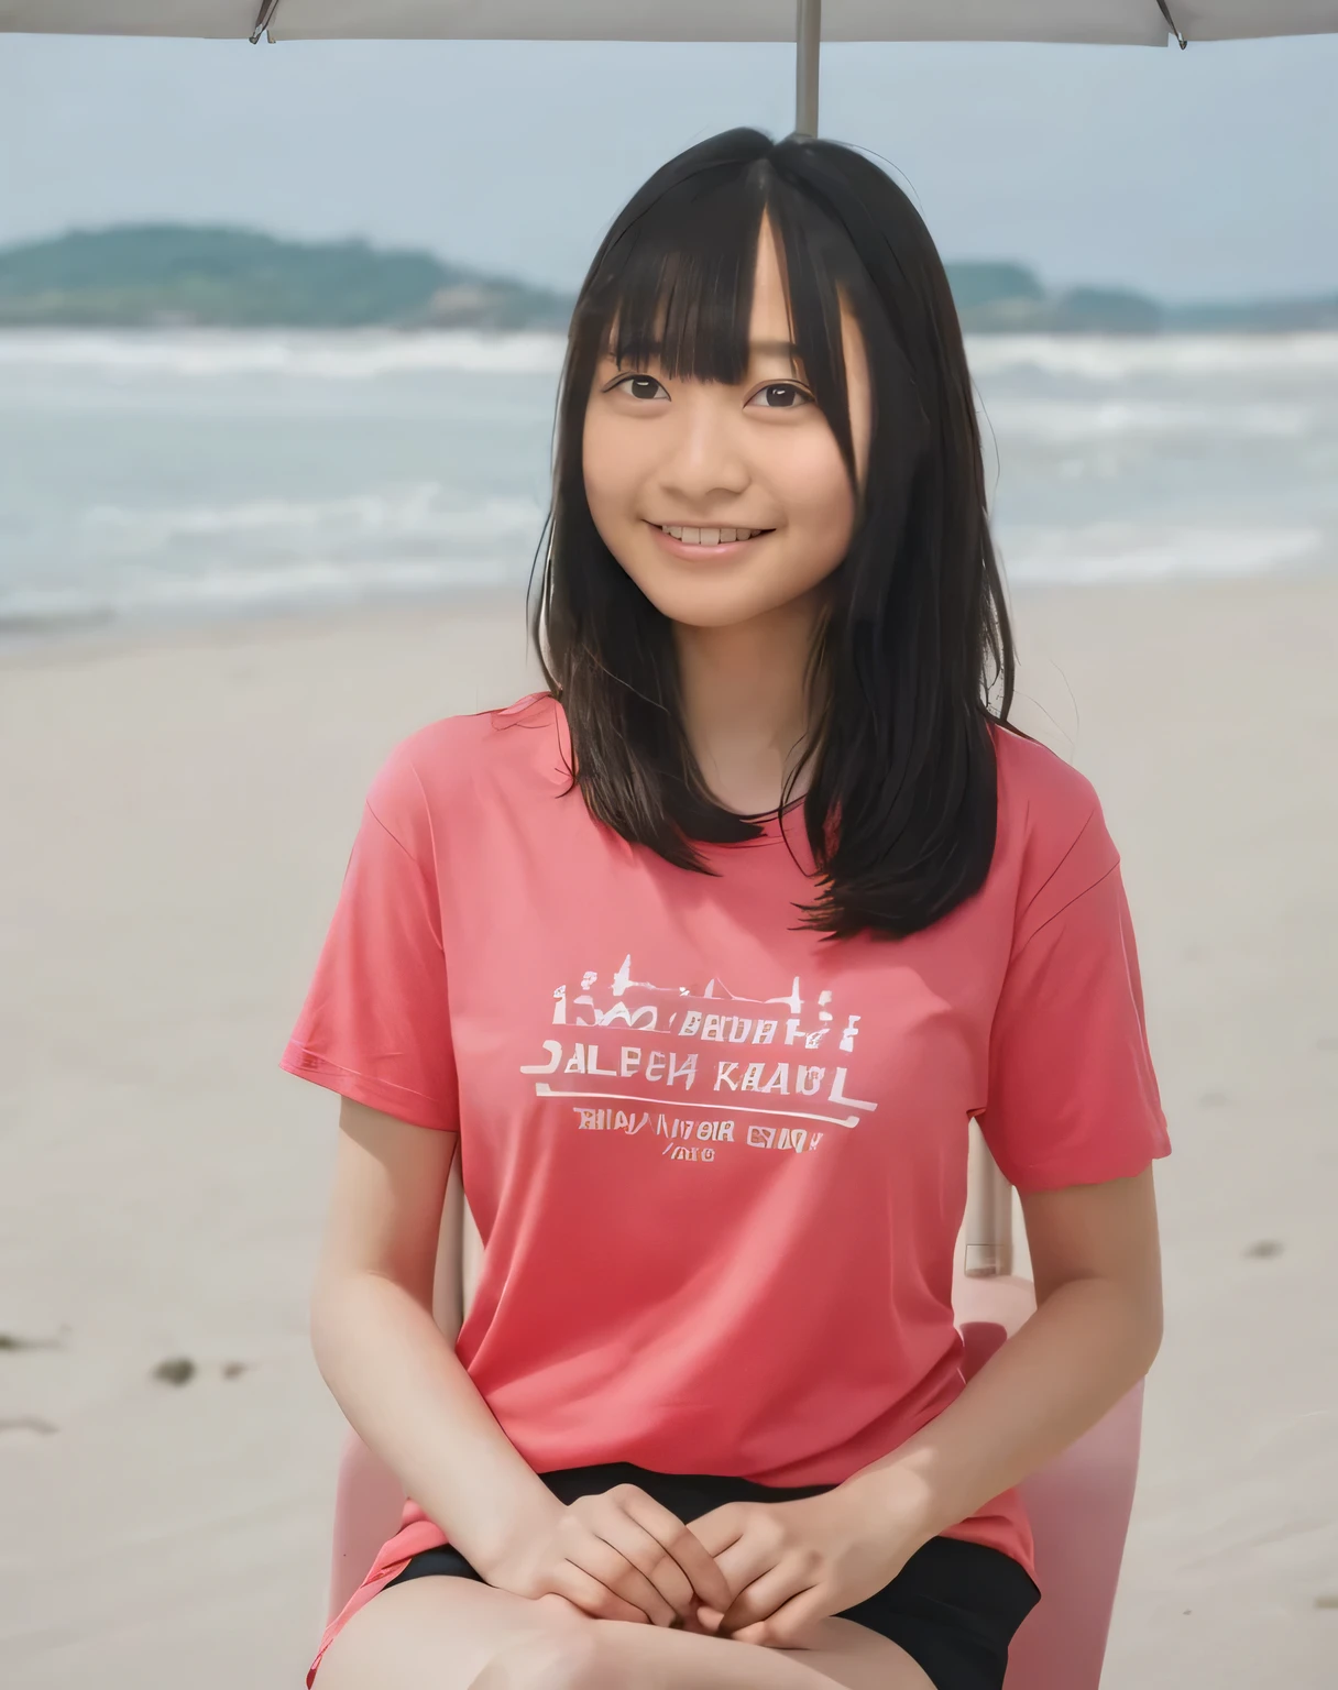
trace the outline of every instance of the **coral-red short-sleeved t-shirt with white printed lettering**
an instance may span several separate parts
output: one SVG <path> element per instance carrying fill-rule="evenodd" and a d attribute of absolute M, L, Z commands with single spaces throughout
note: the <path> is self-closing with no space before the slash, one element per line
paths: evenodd
<path fill-rule="evenodd" d="M 797 926 L 797 811 L 704 847 L 715 875 L 595 821 L 547 696 L 377 774 L 282 1065 L 460 1132 L 485 1249 L 456 1354 L 536 1472 L 846 1479 L 963 1387 L 970 1119 L 1024 1191 L 1167 1153 L 1096 794 L 993 739 L 985 886 L 897 941 Z M 1032 1567 L 1012 1491 L 949 1535 Z M 444 1541 L 409 1502 L 326 1643 Z"/>

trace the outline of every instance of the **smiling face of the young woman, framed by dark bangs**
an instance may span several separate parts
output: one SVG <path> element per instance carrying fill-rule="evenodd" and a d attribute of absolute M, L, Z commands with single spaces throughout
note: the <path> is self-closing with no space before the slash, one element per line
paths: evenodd
<path fill-rule="evenodd" d="M 750 362 L 737 387 L 600 360 L 583 465 L 600 537 L 655 608 L 730 627 L 814 593 L 850 546 L 846 468 L 789 345 L 780 265 L 762 223 Z M 870 384 L 843 311 L 855 461 L 868 453 Z"/>

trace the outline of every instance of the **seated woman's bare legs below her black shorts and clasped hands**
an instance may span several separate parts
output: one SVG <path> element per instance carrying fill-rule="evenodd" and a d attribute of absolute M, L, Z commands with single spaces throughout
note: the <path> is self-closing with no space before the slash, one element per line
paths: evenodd
<path fill-rule="evenodd" d="M 845 1619 L 814 1649 L 564 1619 L 468 1578 L 382 1590 L 326 1651 L 314 1690 L 933 1690 L 885 1638 Z"/>

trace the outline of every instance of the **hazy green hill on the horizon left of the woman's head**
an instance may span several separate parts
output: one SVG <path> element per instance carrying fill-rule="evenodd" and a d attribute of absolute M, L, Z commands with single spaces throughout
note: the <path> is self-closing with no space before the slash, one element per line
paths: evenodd
<path fill-rule="evenodd" d="M 561 294 L 380 252 L 242 228 L 76 230 L 0 248 L 0 324 L 566 328 Z"/>

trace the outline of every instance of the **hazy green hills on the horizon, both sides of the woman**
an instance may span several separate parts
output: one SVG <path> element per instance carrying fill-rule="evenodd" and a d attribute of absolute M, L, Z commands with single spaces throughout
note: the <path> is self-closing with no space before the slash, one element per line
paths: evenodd
<path fill-rule="evenodd" d="M 949 264 L 976 335 L 1338 330 L 1318 299 L 1162 304 L 1122 287 L 1047 289 L 1020 264 Z M 0 328 L 566 330 L 571 296 L 365 240 L 279 240 L 172 223 L 0 247 Z"/>

